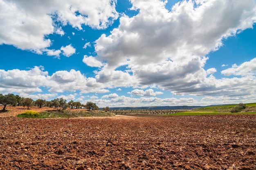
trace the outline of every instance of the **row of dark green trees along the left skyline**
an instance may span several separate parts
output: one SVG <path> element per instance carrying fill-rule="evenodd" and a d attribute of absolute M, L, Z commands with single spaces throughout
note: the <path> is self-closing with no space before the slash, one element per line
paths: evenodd
<path fill-rule="evenodd" d="M 0 94 L 0 104 L 4 105 L 1 112 L 6 111 L 7 105 L 23 106 L 23 107 L 27 107 L 27 109 L 29 109 L 29 107 L 32 107 L 32 106 L 54 107 L 58 111 L 65 110 L 68 107 L 70 107 L 71 109 L 84 108 L 84 109 L 88 109 L 89 111 L 90 110 L 99 110 L 99 107 L 96 105 L 96 103 L 93 103 L 93 102 L 87 102 L 84 105 L 84 104 L 81 104 L 79 101 L 71 100 L 71 101 L 67 102 L 67 100 L 65 100 L 63 98 L 54 98 L 51 101 L 46 101 L 46 100 L 39 98 L 36 101 L 34 101 L 31 98 L 24 98 L 24 97 L 20 97 L 19 95 L 14 95 L 14 94 L 10 94 L 10 93 L 6 94 L 6 95 Z"/>

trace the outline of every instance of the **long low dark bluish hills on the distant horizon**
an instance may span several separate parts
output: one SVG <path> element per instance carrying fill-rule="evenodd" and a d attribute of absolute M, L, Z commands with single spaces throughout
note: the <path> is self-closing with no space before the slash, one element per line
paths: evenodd
<path fill-rule="evenodd" d="M 110 110 L 191 110 L 205 106 L 110 107 Z"/>

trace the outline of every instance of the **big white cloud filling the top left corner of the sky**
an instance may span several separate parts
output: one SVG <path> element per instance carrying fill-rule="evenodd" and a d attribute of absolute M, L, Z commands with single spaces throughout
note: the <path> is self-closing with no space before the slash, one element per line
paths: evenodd
<path fill-rule="evenodd" d="M 51 46 L 49 34 L 65 33 L 59 25 L 105 29 L 118 18 L 115 0 L 0 0 L 0 45 L 14 45 L 42 54 Z M 55 24 L 58 22 L 58 24 Z"/>

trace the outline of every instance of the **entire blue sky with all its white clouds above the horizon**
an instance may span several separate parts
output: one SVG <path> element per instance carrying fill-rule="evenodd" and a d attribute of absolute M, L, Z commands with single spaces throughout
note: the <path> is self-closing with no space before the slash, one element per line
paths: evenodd
<path fill-rule="evenodd" d="M 0 0 L 0 93 L 99 107 L 256 102 L 255 0 Z"/>

